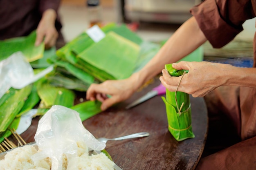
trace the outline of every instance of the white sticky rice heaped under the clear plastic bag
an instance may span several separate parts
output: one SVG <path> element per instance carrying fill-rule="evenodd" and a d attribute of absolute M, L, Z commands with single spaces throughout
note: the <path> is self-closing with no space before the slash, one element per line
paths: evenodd
<path fill-rule="evenodd" d="M 89 151 L 84 142 L 77 142 L 77 155 L 71 160 L 63 154 L 62 170 L 68 170 L 69 164 L 75 164 L 77 170 L 121 170 L 101 151 Z M 1 170 L 51 170 L 52 160 L 47 157 L 33 161 L 32 155 L 40 152 L 35 142 L 0 153 Z M 72 169 L 72 168 L 71 168 Z"/>

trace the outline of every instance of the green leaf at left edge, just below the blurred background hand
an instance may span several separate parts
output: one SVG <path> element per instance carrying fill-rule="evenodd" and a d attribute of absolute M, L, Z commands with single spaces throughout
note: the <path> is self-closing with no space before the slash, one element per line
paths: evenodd
<path fill-rule="evenodd" d="M 28 62 L 42 58 L 45 45 L 42 42 L 39 46 L 35 46 L 35 41 L 36 31 L 31 32 L 28 36 L 0 41 L 0 61 L 6 59 L 17 51 L 21 51 Z"/>

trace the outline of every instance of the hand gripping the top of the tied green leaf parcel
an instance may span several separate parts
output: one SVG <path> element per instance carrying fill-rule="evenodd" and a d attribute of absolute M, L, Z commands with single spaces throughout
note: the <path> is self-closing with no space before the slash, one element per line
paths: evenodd
<path fill-rule="evenodd" d="M 189 70 L 181 82 L 180 77 L 169 75 L 168 71 L 162 70 L 162 76 L 159 78 L 162 84 L 169 91 L 176 91 L 180 82 L 178 91 L 191 94 L 193 97 L 203 97 L 215 88 L 224 84 L 228 77 L 225 77 L 225 71 L 228 71 L 228 64 L 219 64 L 212 62 L 179 62 L 173 63 L 173 68 L 177 70 Z"/>

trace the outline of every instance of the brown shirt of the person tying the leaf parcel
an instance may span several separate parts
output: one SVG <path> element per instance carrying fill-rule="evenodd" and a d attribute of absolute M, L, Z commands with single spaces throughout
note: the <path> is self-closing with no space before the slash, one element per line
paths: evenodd
<path fill-rule="evenodd" d="M 256 16 L 255 0 L 205 0 L 191 9 L 200 29 L 214 48 L 220 48 L 243 31 L 245 20 Z M 256 67 L 256 34 L 254 35 L 254 67 Z M 230 100 L 237 100 L 230 98 Z M 256 136 L 256 88 L 240 87 L 237 105 L 231 112 L 237 118 L 243 140 Z M 233 111 L 233 110 L 232 110 Z"/>

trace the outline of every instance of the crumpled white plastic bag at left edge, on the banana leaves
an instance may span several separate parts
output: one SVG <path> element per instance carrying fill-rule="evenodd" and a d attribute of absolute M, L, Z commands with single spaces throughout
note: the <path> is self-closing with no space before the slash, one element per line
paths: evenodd
<path fill-rule="evenodd" d="M 27 62 L 22 52 L 18 51 L 13 53 L 10 57 L 0 62 L 0 98 L 9 90 L 9 88 L 24 88 L 52 70 L 53 66 L 49 66 L 45 70 L 34 75 L 33 68 L 29 62 Z"/>

